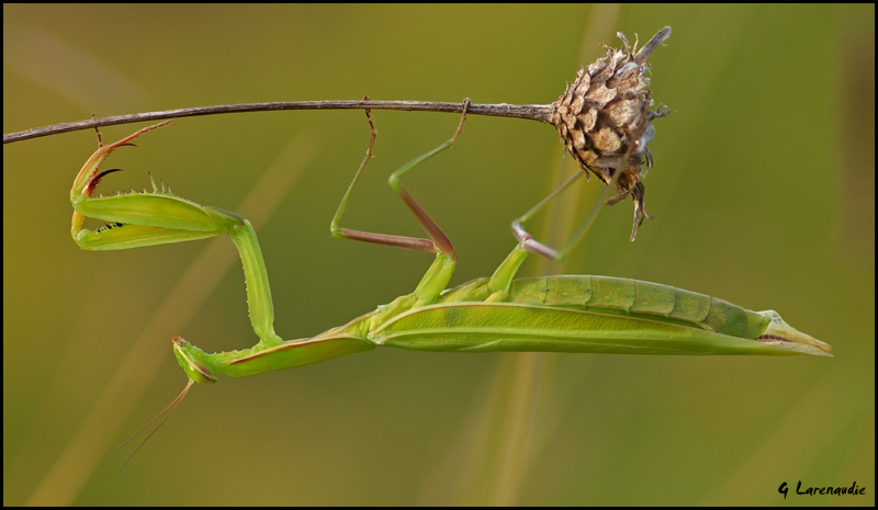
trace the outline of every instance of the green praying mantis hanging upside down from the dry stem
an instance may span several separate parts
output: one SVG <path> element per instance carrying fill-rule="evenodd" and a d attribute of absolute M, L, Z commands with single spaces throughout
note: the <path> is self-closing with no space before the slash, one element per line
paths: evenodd
<path fill-rule="evenodd" d="M 403 186 L 401 178 L 452 147 L 462 132 L 465 115 L 464 107 L 452 138 L 404 165 L 390 178 L 391 188 L 426 231 L 428 239 L 421 239 L 338 226 L 373 154 L 376 132 L 367 110 L 371 128 L 369 149 L 333 218 L 331 234 L 346 239 L 432 252 L 436 258 L 410 294 L 381 305 L 344 326 L 295 340 L 283 340 L 274 332 L 274 309 L 266 263 L 256 233 L 247 219 L 177 196 L 164 183 L 157 186 L 151 175 L 151 192 L 95 196 L 102 179 L 119 171 L 101 171 L 101 163 L 115 149 L 132 146 L 135 138 L 170 122 L 145 127 L 109 145 L 103 145 L 99 132 L 98 150 L 86 161 L 70 191 L 74 206 L 71 235 L 80 248 L 121 250 L 227 233 L 244 267 L 250 321 L 259 341 L 249 349 L 209 354 L 183 338 L 173 338 L 173 352 L 189 383 L 166 411 L 172 411 L 194 383 L 216 383 L 219 375 L 243 377 L 292 369 L 378 347 L 442 352 L 831 356 L 829 344 L 796 330 L 774 310 L 751 311 L 703 294 L 611 276 L 517 280 L 515 275 L 530 252 L 545 254 L 552 251 L 527 234 L 519 220 L 514 224 L 518 245 L 489 277 L 447 288 L 457 264 L 454 248 Z M 87 217 L 108 224 L 90 230 L 83 228 Z"/>

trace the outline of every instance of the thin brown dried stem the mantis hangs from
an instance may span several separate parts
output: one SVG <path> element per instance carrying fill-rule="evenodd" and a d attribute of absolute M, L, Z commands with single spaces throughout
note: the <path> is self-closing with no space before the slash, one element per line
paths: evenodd
<path fill-rule="evenodd" d="M 219 104 L 160 112 L 132 113 L 88 121 L 67 122 L 50 126 L 35 127 L 18 133 L 3 135 L 3 144 L 21 141 L 41 136 L 57 135 L 79 129 L 130 124 L 134 122 L 160 121 L 164 118 L 192 117 L 198 115 L 218 115 L 224 113 L 268 112 L 281 110 L 401 110 L 405 112 L 447 112 L 463 113 L 463 102 L 440 103 L 431 101 L 283 101 L 274 103 Z M 551 104 L 470 104 L 468 115 L 491 115 L 496 117 L 530 118 L 549 122 L 552 115 Z"/>

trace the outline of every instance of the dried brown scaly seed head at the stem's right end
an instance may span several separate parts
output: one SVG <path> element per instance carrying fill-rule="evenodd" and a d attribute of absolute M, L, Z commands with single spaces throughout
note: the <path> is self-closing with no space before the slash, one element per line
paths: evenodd
<path fill-rule="evenodd" d="M 607 205 L 631 195 L 633 241 L 643 218 L 651 218 L 644 207 L 641 177 L 645 174 L 644 163 L 652 167 L 652 154 L 646 147 L 655 136 L 652 120 L 669 113 L 663 106 L 650 110 L 650 80 L 643 73 L 649 70 L 646 59 L 652 52 L 671 36 L 671 27 L 658 31 L 640 50 L 637 39 L 632 48 L 623 34 L 616 35 L 622 39 L 624 49 L 604 45 L 605 56 L 587 69 L 581 67 L 576 81 L 552 103 L 550 122 L 583 170 L 607 185 L 615 185 L 618 195 L 608 200 Z"/>

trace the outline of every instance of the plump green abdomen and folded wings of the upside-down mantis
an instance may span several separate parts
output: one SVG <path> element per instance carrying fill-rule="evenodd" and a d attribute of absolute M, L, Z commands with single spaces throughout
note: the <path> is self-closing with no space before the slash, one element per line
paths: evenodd
<path fill-rule="evenodd" d="M 759 338 L 774 316 L 637 280 L 549 276 L 513 281 L 498 303 L 408 310 L 370 340 L 420 351 L 791 354 L 777 349 L 787 339 Z"/>

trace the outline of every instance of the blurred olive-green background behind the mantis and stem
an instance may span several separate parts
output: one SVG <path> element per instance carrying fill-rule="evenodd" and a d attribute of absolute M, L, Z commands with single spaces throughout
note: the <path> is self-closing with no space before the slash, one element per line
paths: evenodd
<path fill-rule="evenodd" d="M 78 249 L 68 194 L 94 134 L 52 136 L 3 148 L 4 505 L 874 505 L 874 5 L 4 5 L 3 132 L 364 93 L 551 103 L 599 43 L 665 24 L 653 90 L 677 113 L 651 145 L 656 219 L 630 243 L 626 201 L 565 267 L 525 273 L 637 277 L 774 308 L 835 359 L 378 350 L 195 387 L 122 474 L 131 447 L 95 474 L 182 388 L 172 336 L 207 350 L 255 337 L 237 262 L 192 320 L 155 324 L 206 242 Z M 458 117 L 374 115 L 376 158 L 344 223 L 420 236 L 386 177 Z M 104 128 L 104 140 L 137 127 Z M 114 154 L 105 168 L 126 171 L 102 191 L 144 186 L 151 171 L 241 211 L 267 168 L 301 157 L 259 236 L 278 332 L 306 337 L 409 292 L 430 262 L 328 235 L 367 143 L 356 111 L 179 120 Z M 550 126 L 471 116 L 454 150 L 410 174 L 458 248 L 453 284 L 494 270 L 514 245 L 509 220 L 559 165 Z M 593 200 L 564 215 L 582 218 Z M 121 369 L 146 331 L 156 361 Z M 799 480 L 867 489 L 778 494 Z"/>

